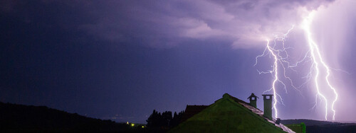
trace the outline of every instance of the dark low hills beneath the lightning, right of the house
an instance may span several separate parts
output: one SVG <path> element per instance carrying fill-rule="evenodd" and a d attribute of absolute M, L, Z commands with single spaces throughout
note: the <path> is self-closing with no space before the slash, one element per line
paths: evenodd
<path fill-rule="evenodd" d="M 356 123 L 328 122 L 319 120 L 281 120 L 283 125 L 300 124 L 304 122 L 306 132 L 356 132 Z"/>

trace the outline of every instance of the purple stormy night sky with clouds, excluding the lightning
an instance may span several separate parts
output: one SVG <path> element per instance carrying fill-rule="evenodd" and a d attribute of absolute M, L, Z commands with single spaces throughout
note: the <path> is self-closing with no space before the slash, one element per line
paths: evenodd
<path fill-rule="evenodd" d="M 209 105 L 224 93 L 246 100 L 271 88 L 266 40 L 288 35 L 303 58 L 311 25 L 339 93 L 337 121 L 356 120 L 355 1 L 0 1 L 0 101 L 46 105 L 116 122 L 145 123 L 152 110 Z M 305 81 L 308 62 L 288 72 Z M 342 71 L 341 71 L 342 69 Z M 347 71 L 347 72 L 344 72 Z M 313 82 L 281 84 L 281 119 L 323 120 Z"/>

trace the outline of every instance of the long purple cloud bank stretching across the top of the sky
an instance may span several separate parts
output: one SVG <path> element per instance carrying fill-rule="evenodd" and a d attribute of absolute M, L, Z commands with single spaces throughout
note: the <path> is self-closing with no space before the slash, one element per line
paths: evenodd
<path fill-rule="evenodd" d="M 263 37 L 300 23 L 307 8 L 329 2 L 81 0 L 5 1 L 2 5 L 4 11 L 23 12 L 23 21 L 48 17 L 50 25 L 114 42 L 171 47 L 189 39 L 229 40 L 234 47 L 253 47 L 261 44 Z M 28 14 L 34 8 L 43 8 L 37 14 L 41 18 Z"/>

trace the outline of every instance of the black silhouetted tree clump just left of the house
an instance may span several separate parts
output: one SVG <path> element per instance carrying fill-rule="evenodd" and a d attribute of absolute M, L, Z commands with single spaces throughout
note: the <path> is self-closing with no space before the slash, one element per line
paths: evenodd
<path fill-rule="evenodd" d="M 170 129 L 179 125 L 179 122 L 182 120 L 183 113 L 184 111 L 178 113 L 174 112 L 172 115 L 171 111 L 161 113 L 153 110 L 150 117 L 146 120 L 147 127 L 150 129 Z"/>

